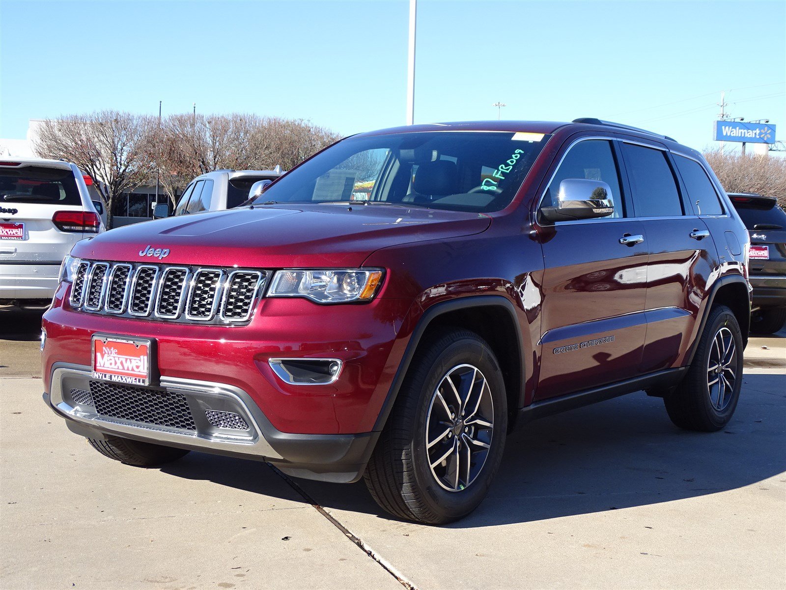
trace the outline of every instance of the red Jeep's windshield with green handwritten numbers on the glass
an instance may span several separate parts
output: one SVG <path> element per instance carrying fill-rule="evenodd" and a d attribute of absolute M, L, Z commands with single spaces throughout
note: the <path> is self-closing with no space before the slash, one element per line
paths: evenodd
<path fill-rule="evenodd" d="M 549 137 L 421 131 L 349 138 L 285 175 L 254 204 L 363 202 L 498 211 L 512 201 Z"/>

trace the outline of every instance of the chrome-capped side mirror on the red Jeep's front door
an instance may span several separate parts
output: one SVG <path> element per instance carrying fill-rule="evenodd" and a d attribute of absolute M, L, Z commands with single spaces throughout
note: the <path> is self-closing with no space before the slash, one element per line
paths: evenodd
<path fill-rule="evenodd" d="M 601 180 L 588 179 L 564 179 L 556 203 L 541 209 L 543 219 L 550 222 L 597 219 L 613 213 L 612 189 Z"/>

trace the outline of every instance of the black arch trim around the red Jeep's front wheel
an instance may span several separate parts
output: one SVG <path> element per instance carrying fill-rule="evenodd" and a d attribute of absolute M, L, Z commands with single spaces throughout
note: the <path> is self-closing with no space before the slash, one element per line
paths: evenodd
<path fill-rule="evenodd" d="M 420 344 L 421 338 L 428 328 L 428 324 L 432 322 L 433 319 L 438 317 L 439 315 L 446 314 L 448 312 L 455 312 L 457 309 L 468 309 L 468 308 L 483 308 L 483 307 L 490 307 L 490 306 L 497 306 L 504 308 L 510 315 L 510 321 L 513 323 L 514 328 L 516 329 L 516 339 L 519 343 L 519 355 L 518 358 L 520 361 L 520 384 L 521 384 L 521 391 L 519 392 L 518 399 L 522 399 L 522 393 L 524 389 L 524 362 L 523 362 L 523 339 L 521 337 L 521 326 L 519 326 L 519 320 L 516 315 L 516 308 L 513 304 L 505 297 L 501 295 L 477 295 L 472 297 L 461 297 L 460 299 L 454 299 L 451 301 L 443 301 L 442 303 L 437 303 L 432 305 L 428 308 L 424 314 L 422 315 L 421 319 L 418 321 L 417 326 L 413 330 L 412 336 L 410 337 L 410 342 L 406 345 L 406 351 L 404 351 L 404 356 L 402 357 L 401 362 L 399 363 L 399 370 L 396 371 L 395 377 L 393 378 L 393 385 L 391 385 L 391 389 L 387 392 L 387 397 L 384 400 L 384 404 L 382 404 L 382 409 L 380 410 L 380 415 L 376 418 L 376 423 L 374 424 L 374 431 L 378 432 L 382 430 L 385 426 L 385 422 L 387 422 L 387 417 L 390 415 L 391 410 L 393 409 L 393 404 L 395 403 L 396 397 L 399 396 L 399 389 L 401 389 L 401 385 L 404 382 L 404 377 L 406 376 L 406 372 L 410 368 L 410 363 L 415 356 L 415 350 L 417 349 L 417 345 Z"/>

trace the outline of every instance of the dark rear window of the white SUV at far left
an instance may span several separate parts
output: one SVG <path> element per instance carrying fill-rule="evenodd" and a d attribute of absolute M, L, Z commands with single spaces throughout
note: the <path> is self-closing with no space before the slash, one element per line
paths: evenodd
<path fill-rule="evenodd" d="M 82 198 L 71 170 L 26 166 L 0 170 L 0 203 L 82 205 Z"/>

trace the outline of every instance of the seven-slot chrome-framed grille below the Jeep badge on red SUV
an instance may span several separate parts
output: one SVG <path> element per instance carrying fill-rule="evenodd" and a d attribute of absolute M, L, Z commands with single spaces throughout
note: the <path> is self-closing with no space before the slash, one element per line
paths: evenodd
<path fill-rule="evenodd" d="M 171 322 L 248 323 L 266 271 L 83 261 L 69 303 L 83 312 Z"/>

